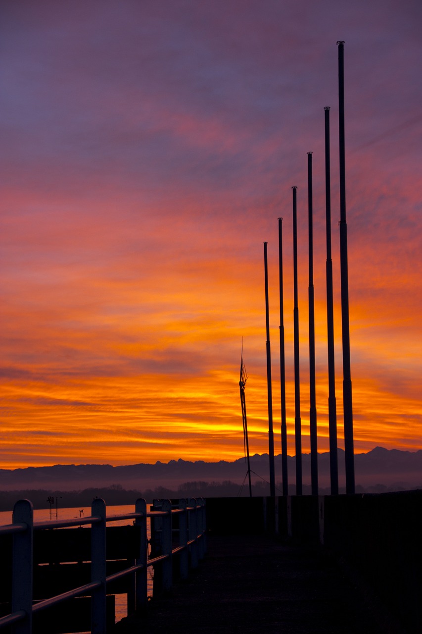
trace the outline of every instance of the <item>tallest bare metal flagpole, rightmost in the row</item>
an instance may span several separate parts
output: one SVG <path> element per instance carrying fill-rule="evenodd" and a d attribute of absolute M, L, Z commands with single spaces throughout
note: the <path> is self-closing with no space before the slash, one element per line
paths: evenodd
<path fill-rule="evenodd" d="M 346 493 L 355 493 L 350 327 L 348 320 L 348 264 L 344 134 L 344 42 L 338 41 L 338 134 L 340 145 L 340 280 L 342 283 L 343 411 Z"/>

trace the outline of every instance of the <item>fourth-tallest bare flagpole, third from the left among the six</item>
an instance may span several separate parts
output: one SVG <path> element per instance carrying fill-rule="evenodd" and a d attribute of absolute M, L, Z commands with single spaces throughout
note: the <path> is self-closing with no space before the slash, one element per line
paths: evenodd
<path fill-rule="evenodd" d="M 299 372 L 299 307 L 297 292 L 297 187 L 293 190 L 293 337 L 295 350 L 295 451 L 296 495 L 302 495 L 302 430 L 300 424 L 300 372 Z"/>

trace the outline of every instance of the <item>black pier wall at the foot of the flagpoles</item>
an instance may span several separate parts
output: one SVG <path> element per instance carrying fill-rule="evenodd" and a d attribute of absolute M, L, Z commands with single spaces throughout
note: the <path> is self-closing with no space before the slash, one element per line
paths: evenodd
<path fill-rule="evenodd" d="M 276 533 L 321 546 L 354 579 L 422 631 L 422 491 L 364 495 L 208 498 L 216 534 Z"/>

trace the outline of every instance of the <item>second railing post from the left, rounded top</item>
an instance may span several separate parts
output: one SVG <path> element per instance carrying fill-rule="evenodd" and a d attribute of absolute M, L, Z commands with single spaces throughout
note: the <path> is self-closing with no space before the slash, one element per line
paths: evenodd
<path fill-rule="evenodd" d="M 106 631 L 106 506 L 101 498 L 93 500 L 91 515 L 100 517 L 101 522 L 91 525 L 91 581 L 99 581 L 101 586 L 93 590 L 91 598 L 91 633 L 105 634 Z"/>

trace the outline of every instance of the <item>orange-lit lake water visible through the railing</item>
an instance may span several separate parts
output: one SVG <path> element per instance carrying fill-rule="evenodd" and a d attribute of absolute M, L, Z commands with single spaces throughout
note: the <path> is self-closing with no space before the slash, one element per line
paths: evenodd
<path fill-rule="evenodd" d="M 135 505 L 122 505 L 122 506 L 108 506 L 106 507 L 106 517 L 115 517 L 116 515 L 123 515 L 125 513 L 134 513 Z M 50 517 L 51 515 L 51 517 Z M 73 519 L 74 517 L 89 517 L 91 515 L 91 507 L 74 507 L 74 508 L 58 508 L 57 519 Z M 54 521 L 56 519 L 56 508 L 53 507 L 51 512 L 49 508 L 41 508 L 34 510 L 34 522 L 46 522 L 49 520 Z M 1 511 L 0 512 L 0 526 L 4 524 L 11 524 L 12 512 Z M 109 526 L 127 526 L 133 523 L 132 519 L 117 520 L 110 522 Z M 89 526 L 89 524 L 88 524 Z M 147 534 L 150 538 L 150 522 L 147 522 Z M 148 595 L 152 596 L 152 568 L 148 568 Z M 116 596 L 116 621 L 127 616 L 127 595 L 120 594 Z"/>

